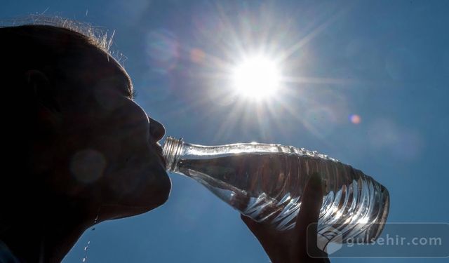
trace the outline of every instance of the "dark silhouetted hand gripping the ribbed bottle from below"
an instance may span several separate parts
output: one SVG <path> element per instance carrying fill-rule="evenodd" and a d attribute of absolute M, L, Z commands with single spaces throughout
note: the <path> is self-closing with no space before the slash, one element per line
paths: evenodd
<path fill-rule="evenodd" d="M 312 224 L 318 222 L 322 202 L 321 176 L 314 174 L 304 188 L 294 229 L 279 231 L 269 222 L 255 222 L 244 215 L 241 215 L 241 219 L 259 240 L 273 263 L 330 262 L 326 253 L 316 245 L 316 224 Z M 309 224 L 309 233 L 315 234 L 307 235 Z M 309 252 L 313 252 L 312 255 L 319 255 L 320 258 L 310 257 L 307 246 Z"/>

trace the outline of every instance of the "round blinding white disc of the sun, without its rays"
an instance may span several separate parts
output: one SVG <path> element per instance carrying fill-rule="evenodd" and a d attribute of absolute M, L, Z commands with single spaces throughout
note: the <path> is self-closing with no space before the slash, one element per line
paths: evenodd
<path fill-rule="evenodd" d="M 233 72 L 234 88 L 241 95 L 260 100 L 279 88 L 279 69 L 274 61 L 263 56 L 244 60 Z"/>

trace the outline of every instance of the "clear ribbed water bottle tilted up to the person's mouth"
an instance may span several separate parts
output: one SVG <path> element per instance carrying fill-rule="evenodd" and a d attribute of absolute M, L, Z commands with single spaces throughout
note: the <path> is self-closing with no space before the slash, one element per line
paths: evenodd
<path fill-rule="evenodd" d="M 389 210 L 385 187 L 349 165 L 316 151 L 279 144 L 189 144 L 168 137 L 163 156 L 169 172 L 200 182 L 240 213 L 279 230 L 295 227 L 304 186 L 313 173 L 325 183 L 318 231 L 375 240 Z"/>

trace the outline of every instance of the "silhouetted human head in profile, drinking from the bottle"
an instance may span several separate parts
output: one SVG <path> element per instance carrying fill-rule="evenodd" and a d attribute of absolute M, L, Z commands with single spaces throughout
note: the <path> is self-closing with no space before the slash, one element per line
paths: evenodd
<path fill-rule="evenodd" d="M 70 23 L 0 28 L 13 142 L 5 149 L 13 173 L 0 176 L 0 223 L 55 209 L 76 210 L 76 220 L 127 217 L 170 193 L 156 144 L 163 126 L 133 102 L 110 42 Z"/>

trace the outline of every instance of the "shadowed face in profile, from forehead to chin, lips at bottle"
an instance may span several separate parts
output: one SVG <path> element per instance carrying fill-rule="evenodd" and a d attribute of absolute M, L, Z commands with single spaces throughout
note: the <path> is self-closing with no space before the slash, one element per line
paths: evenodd
<path fill-rule="evenodd" d="M 115 60 L 95 63 L 93 60 L 88 68 L 97 77 L 84 87 L 90 96 L 86 101 L 92 105 L 87 104 L 87 110 L 80 109 L 71 115 L 72 125 L 80 128 L 76 134 L 89 134 L 85 147 L 76 149 L 70 158 L 71 175 L 91 188 L 105 213 L 121 211 L 112 213 L 114 217 L 156 208 L 170 192 L 158 144 L 165 129 L 133 101 L 128 74 Z M 80 119 L 79 112 L 86 115 Z M 84 128 L 88 130 L 83 132 Z M 72 132 L 72 128 L 67 130 Z"/>

